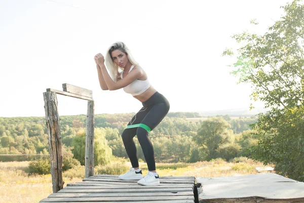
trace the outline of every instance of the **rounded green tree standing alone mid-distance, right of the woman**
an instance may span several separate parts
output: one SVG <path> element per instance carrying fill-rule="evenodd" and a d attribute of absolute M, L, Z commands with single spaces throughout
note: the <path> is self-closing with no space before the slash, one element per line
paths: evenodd
<path fill-rule="evenodd" d="M 208 118 L 198 129 L 193 137 L 194 142 L 202 147 L 207 154 L 207 159 L 217 158 L 218 149 L 221 145 L 229 143 L 232 130 L 229 130 L 230 124 L 222 117 Z"/>

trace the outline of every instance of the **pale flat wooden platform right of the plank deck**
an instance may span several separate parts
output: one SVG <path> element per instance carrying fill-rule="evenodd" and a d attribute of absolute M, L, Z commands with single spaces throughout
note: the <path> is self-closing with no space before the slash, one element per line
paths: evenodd
<path fill-rule="evenodd" d="M 233 177 L 197 178 L 199 202 L 204 203 L 300 203 L 304 183 L 283 176 L 251 174 Z"/>

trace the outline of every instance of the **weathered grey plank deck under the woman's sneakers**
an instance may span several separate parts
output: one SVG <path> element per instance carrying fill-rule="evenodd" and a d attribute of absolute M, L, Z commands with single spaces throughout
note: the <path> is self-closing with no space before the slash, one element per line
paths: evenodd
<path fill-rule="evenodd" d="M 95 175 L 83 182 L 67 184 L 40 202 L 195 202 L 195 177 L 160 176 L 161 185 L 142 186 L 118 176 Z"/>

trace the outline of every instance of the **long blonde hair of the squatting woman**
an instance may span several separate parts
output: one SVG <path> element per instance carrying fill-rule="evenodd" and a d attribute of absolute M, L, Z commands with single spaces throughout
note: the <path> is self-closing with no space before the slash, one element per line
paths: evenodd
<path fill-rule="evenodd" d="M 109 75 L 114 82 L 117 82 L 118 74 L 123 71 L 122 67 L 118 66 L 115 62 L 113 62 L 113 59 L 111 56 L 112 51 L 115 51 L 118 49 L 120 51 L 124 52 L 128 56 L 129 61 L 133 65 L 139 65 L 132 57 L 132 54 L 131 54 L 130 50 L 128 49 L 128 47 L 123 42 L 116 42 L 116 43 L 112 44 L 107 49 L 104 59 L 105 59 L 105 65 L 106 65 L 107 69 L 109 70 Z"/>

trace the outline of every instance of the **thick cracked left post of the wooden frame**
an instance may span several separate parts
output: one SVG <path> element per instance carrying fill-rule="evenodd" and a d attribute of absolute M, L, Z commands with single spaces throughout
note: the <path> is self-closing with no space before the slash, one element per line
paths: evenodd
<path fill-rule="evenodd" d="M 53 192 L 63 188 L 62 180 L 62 147 L 60 134 L 60 118 L 58 114 L 58 102 L 55 92 L 44 92 L 46 124 L 49 134 L 49 149 L 51 159 L 51 175 Z"/>

